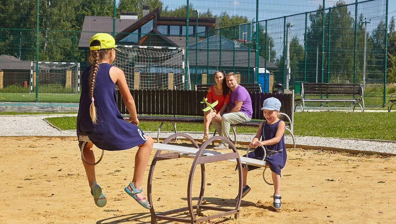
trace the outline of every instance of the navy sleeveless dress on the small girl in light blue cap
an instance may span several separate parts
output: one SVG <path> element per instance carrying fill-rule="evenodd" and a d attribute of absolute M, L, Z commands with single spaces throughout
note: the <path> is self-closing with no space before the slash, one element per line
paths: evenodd
<path fill-rule="evenodd" d="M 276 135 L 276 131 L 278 130 L 278 124 L 281 120 L 279 120 L 276 123 L 273 124 L 268 124 L 267 121 L 264 121 L 264 125 L 262 126 L 262 141 L 263 140 L 269 140 L 273 139 Z M 280 141 L 276 144 L 273 145 L 268 145 L 267 147 L 267 155 L 265 157 L 265 161 L 267 161 L 270 169 L 272 172 L 280 174 L 280 170 L 285 167 L 286 164 L 286 146 L 285 146 L 285 134 L 283 134 L 282 138 Z M 246 157 L 246 155 L 244 156 Z M 254 158 L 254 159 L 260 159 L 262 160 L 264 157 L 264 150 L 263 148 L 257 147 L 253 152 L 249 152 L 249 158 Z M 246 165 L 242 165 L 243 168 L 246 167 Z M 253 169 L 258 169 L 261 167 L 253 166 L 253 165 L 247 165 L 247 171 L 251 171 Z"/>

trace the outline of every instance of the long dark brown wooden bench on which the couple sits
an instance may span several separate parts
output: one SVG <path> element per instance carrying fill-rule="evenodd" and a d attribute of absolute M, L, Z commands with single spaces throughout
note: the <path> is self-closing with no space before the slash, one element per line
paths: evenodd
<path fill-rule="evenodd" d="M 200 103 L 200 101 L 206 97 L 207 90 L 131 89 L 130 91 L 133 99 L 135 99 L 139 121 L 161 122 L 158 128 L 157 142 L 164 123 L 172 123 L 175 133 L 177 133 L 176 123 L 204 123 L 204 111 L 202 109 L 206 105 Z M 283 116 L 282 120 L 286 123 L 286 130 L 290 132 L 295 145 L 293 135 L 293 94 L 258 92 L 249 92 L 249 94 L 252 99 L 253 120 L 247 123 L 231 125 L 234 132 L 234 143 L 237 141 L 235 127 L 259 127 L 261 121 L 264 120 L 263 112 L 260 110 L 264 100 L 269 97 L 275 97 L 282 103 L 280 114 Z M 129 114 L 119 91 L 117 91 L 117 104 L 121 114 Z M 255 121 L 256 119 L 259 121 Z"/>

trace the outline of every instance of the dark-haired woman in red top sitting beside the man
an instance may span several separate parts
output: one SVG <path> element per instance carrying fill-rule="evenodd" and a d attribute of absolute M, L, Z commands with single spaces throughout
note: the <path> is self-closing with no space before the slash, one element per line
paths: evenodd
<path fill-rule="evenodd" d="M 212 119 L 215 122 L 221 122 L 221 114 L 227 109 L 230 99 L 230 88 L 227 86 L 226 82 L 223 82 L 225 76 L 224 70 L 218 70 L 215 72 L 215 83 L 209 87 L 208 103 L 214 103 L 219 101 L 215 106 L 215 110 L 208 110 L 204 114 L 204 141 L 209 139 L 209 125 Z"/>

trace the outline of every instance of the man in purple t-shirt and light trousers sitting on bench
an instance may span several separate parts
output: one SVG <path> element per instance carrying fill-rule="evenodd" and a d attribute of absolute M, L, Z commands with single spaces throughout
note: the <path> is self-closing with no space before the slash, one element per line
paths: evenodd
<path fill-rule="evenodd" d="M 234 72 L 225 75 L 225 82 L 231 89 L 230 105 L 231 110 L 221 116 L 221 123 L 212 120 L 212 125 L 219 135 L 228 138 L 230 134 L 230 125 L 245 123 L 251 120 L 253 108 L 251 107 L 251 98 L 247 90 L 237 83 Z M 221 142 L 218 146 L 213 147 L 216 150 L 227 150 L 228 143 Z"/>

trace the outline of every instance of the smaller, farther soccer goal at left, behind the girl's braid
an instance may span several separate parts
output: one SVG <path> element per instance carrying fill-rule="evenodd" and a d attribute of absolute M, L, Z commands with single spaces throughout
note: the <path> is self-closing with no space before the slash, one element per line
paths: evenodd
<path fill-rule="evenodd" d="M 31 63 L 30 93 L 36 91 L 38 80 L 39 93 L 80 93 L 80 63 L 72 62 L 38 62 Z"/>

